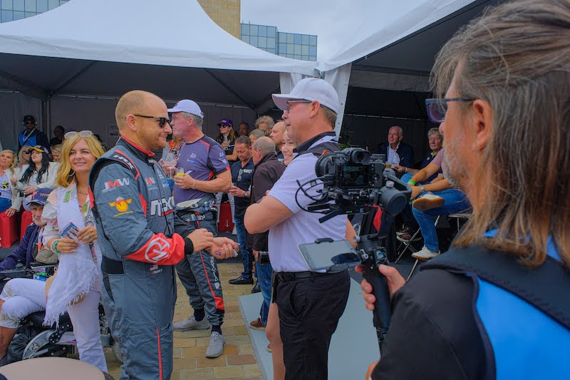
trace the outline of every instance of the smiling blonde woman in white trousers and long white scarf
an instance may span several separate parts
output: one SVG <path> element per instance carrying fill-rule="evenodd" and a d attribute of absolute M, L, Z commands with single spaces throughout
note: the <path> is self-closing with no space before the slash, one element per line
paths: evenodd
<path fill-rule="evenodd" d="M 103 149 L 90 131 L 66 133 L 56 178 L 58 188 L 51 192 L 42 214 L 47 222 L 43 242 L 61 254 L 48 290 L 44 324 L 53 324 L 67 311 L 79 359 L 106 372 L 99 327 L 101 253 L 88 194 L 89 170 L 101 155 Z M 69 232 L 70 223 L 75 233 Z"/>

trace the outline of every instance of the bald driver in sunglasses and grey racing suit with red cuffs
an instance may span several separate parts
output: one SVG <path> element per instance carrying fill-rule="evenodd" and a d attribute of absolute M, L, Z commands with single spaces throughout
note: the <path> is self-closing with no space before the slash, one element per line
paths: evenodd
<path fill-rule="evenodd" d="M 170 379 L 174 265 L 199 250 L 233 256 L 237 245 L 214 240 L 175 215 L 165 174 L 151 152 L 164 148 L 172 133 L 165 103 L 152 93 L 130 91 L 120 98 L 115 118 L 121 138 L 90 173 L 103 305 L 123 359 L 120 379 Z"/>

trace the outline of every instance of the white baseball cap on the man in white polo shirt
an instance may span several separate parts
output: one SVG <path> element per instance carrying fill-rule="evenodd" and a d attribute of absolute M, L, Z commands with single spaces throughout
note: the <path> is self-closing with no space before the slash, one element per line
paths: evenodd
<path fill-rule="evenodd" d="M 323 79 L 304 78 L 299 81 L 291 93 L 274 93 L 271 95 L 275 106 L 281 110 L 287 110 L 289 99 L 302 99 L 304 101 L 318 101 L 321 106 L 331 108 L 335 113 L 341 108 L 336 90 Z"/>

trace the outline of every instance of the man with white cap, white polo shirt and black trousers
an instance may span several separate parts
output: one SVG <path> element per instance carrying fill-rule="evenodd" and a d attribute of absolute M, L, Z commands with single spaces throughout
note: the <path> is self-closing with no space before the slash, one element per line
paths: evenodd
<path fill-rule="evenodd" d="M 346 270 L 311 271 L 298 247 L 323 237 L 344 239 L 350 224 L 346 215 L 318 222 L 322 215 L 305 211 L 313 200 L 297 193 L 297 180 L 314 180 L 318 156 L 324 150 L 339 150 L 333 132 L 340 108 L 338 95 L 326 81 L 305 78 L 291 93 L 274 94 L 273 101 L 284 111 L 287 133 L 299 142 L 299 154 L 269 195 L 248 207 L 245 226 L 249 233 L 269 230 L 286 379 L 327 379 L 328 346 L 346 307 L 350 278 Z M 318 188 L 322 185 L 309 190 L 309 195 L 318 196 Z"/>

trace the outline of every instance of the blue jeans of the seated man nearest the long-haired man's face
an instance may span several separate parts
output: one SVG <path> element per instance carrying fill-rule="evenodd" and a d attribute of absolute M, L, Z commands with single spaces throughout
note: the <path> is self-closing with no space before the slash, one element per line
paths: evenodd
<path fill-rule="evenodd" d="M 445 200 L 445 205 L 425 211 L 420 211 L 412 207 L 412 212 L 414 213 L 415 220 L 418 221 L 418 225 L 420 225 L 425 247 L 435 252 L 440 249 L 440 243 L 439 240 L 437 240 L 437 231 L 435 230 L 433 217 L 467 211 L 470 209 L 471 204 L 467 196 L 457 189 L 435 191 L 433 194 L 442 197 Z"/>

